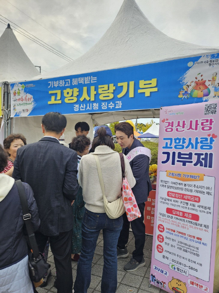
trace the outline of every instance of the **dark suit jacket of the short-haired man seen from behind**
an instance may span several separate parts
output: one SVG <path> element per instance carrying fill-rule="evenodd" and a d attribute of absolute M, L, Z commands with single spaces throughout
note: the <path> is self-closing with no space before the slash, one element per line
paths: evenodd
<path fill-rule="evenodd" d="M 39 231 L 56 236 L 73 227 L 71 201 L 78 191 L 77 153 L 56 138 L 43 137 L 17 150 L 13 178 L 34 192 L 41 225 Z"/>

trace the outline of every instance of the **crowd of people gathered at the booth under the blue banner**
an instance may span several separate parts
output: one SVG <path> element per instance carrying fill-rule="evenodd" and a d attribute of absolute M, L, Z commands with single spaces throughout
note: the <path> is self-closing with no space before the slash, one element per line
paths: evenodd
<path fill-rule="evenodd" d="M 101 230 L 104 239 L 101 292 L 116 292 L 117 258 L 129 255 L 126 245 L 130 222 L 126 213 L 116 219 L 110 219 L 105 213 L 94 155 L 100 161 L 108 202 L 122 194 L 120 156 L 114 151 L 113 135 L 108 126 L 97 127 L 91 143 L 87 137 L 89 125 L 78 122 L 76 136 L 68 145 L 62 138 L 66 124 L 64 115 L 49 112 L 42 118 L 44 136 L 41 140 L 26 144 L 23 135 L 10 134 L 4 139 L 4 149 L 0 147 L 0 229 L 7 231 L 0 234 L 1 292 L 37 292 L 28 276 L 28 246 L 15 184 L 18 179 L 25 187 L 35 238 L 45 258 L 50 245 L 57 293 L 87 292 Z M 124 266 L 124 270 L 130 272 L 145 265 L 144 207 L 151 190 L 150 151 L 134 137 L 133 127 L 128 122 L 116 124 L 115 133 L 122 147 L 125 176 L 141 212 L 141 217 L 131 221 L 135 249 Z M 74 287 L 71 261 L 78 262 Z M 46 285 L 49 273 L 50 269 L 42 286 Z M 21 279 L 22 287 L 18 288 Z"/>

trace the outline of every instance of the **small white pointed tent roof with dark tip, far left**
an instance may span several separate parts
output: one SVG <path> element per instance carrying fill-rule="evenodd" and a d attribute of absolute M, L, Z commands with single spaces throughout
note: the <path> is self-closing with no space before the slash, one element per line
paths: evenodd
<path fill-rule="evenodd" d="M 0 81 L 24 80 L 39 74 L 8 24 L 0 37 Z"/>

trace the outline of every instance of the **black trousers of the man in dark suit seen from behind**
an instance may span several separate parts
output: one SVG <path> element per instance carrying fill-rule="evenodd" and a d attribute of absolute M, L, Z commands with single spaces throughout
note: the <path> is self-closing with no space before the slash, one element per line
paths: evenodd
<path fill-rule="evenodd" d="M 58 236 L 46 236 L 35 233 L 39 251 L 43 253 L 49 238 L 56 269 L 57 293 L 72 293 L 73 279 L 71 268 L 72 230 L 59 233 Z"/>

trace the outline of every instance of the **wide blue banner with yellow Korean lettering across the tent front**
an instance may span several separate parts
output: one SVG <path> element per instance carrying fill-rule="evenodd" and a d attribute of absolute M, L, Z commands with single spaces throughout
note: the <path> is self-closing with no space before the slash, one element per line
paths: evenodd
<path fill-rule="evenodd" d="M 218 73 L 218 75 L 217 75 Z M 219 97 L 219 54 L 12 83 L 11 116 L 155 109 Z"/>

